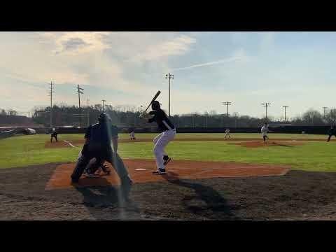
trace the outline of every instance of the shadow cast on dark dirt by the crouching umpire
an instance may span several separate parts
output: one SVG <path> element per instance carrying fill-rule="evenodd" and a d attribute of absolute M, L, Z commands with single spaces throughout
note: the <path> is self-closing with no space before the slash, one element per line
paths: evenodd
<path fill-rule="evenodd" d="M 120 187 L 76 187 L 83 195 L 83 204 L 95 220 L 127 220 L 141 218 L 140 209 L 131 200 L 125 200 Z"/>

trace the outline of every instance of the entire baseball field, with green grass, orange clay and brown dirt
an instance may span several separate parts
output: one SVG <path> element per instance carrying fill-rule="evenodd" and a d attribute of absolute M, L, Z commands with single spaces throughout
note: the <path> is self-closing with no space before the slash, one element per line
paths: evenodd
<path fill-rule="evenodd" d="M 120 134 L 118 153 L 134 186 L 118 176 L 69 176 L 83 134 L 0 140 L 1 220 L 336 220 L 336 141 L 325 135 L 176 134 L 167 175 L 155 176 L 153 137 Z M 113 170 L 113 169 L 112 169 Z"/>

